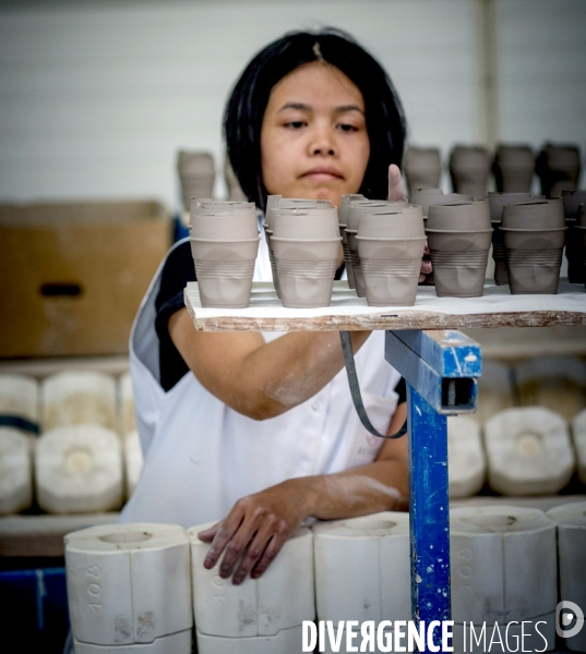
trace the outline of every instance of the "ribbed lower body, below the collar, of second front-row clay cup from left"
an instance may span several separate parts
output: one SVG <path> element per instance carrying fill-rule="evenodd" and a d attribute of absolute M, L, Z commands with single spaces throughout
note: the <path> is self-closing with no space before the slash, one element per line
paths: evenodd
<path fill-rule="evenodd" d="M 340 239 L 310 241 L 273 237 L 272 242 L 283 305 L 328 306 Z"/>

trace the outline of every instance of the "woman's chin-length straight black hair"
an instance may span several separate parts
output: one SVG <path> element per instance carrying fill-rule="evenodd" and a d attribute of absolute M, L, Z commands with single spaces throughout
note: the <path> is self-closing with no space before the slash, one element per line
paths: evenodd
<path fill-rule="evenodd" d="M 247 65 L 224 114 L 230 164 L 244 194 L 263 209 L 266 190 L 261 171 L 261 128 L 268 96 L 279 80 L 300 65 L 319 60 L 320 53 L 356 84 L 364 99 L 370 159 L 359 192 L 372 199 L 386 199 L 388 166 L 400 166 L 405 117 L 397 92 L 381 64 L 339 29 L 290 32 L 266 46 Z"/>

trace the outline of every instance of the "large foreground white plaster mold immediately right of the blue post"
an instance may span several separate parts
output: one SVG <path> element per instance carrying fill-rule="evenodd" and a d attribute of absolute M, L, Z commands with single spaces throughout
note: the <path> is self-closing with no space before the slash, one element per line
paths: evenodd
<path fill-rule="evenodd" d="M 487 643 L 497 622 L 503 641 L 510 625 L 510 643 L 513 637 L 521 642 L 524 630 L 526 651 L 543 651 L 543 638 L 551 651 L 558 603 L 553 521 L 539 509 L 459 507 L 450 512 L 450 541 L 454 652 L 485 651 L 470 647 L 470 622 L 477 633 L 487 623 Z M 503 650 L 497 641 L 488 651 Z"/>

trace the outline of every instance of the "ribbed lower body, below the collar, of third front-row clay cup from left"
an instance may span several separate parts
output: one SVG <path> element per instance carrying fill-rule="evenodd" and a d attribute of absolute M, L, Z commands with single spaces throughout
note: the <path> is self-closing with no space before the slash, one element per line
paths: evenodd
<path fill-rule="evenodd" d="M 357 235 L 356 241 L 368 304 L 415 304 L 426 237 L 382 239 Z"/>

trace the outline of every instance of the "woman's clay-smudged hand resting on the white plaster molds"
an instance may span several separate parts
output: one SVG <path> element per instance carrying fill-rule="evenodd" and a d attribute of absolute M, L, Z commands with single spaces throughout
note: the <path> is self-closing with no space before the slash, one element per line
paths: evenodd
<path fill-rule="evenodd" d="M 226 550 L 219 567 L 223 579 L 232 571 L 236 585 L 249 572 L 252 579 L 259 578 L 309 514 L 309 486 L 300 479 L 288 480 L 239 499 L 222 522 L 198 534 L 204 543 L 212 543 L 205 568 L 213 568 Z"/>

